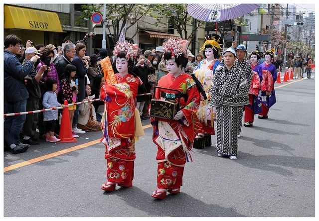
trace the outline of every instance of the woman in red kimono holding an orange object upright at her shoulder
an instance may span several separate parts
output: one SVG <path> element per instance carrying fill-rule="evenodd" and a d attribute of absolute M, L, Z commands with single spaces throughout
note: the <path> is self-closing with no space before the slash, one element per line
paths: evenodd
<path fill-rule="evenodd" d="M 102 190 L 112 192 L 115 185 L 131 187 L 135 160 L 135 100 L 140 78 L 129 74 L 138 46 L 127 42 L 117 43 L 113 54 L 116 59 L 116 82 L 103 85 L 100 99 L 105 101 L 101 120 L 102 142 L 107 160 L 107 182 Z"/>

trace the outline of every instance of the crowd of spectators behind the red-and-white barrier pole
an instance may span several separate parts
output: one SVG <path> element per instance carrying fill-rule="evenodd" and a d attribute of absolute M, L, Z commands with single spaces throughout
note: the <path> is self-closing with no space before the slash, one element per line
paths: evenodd
<path fill-rule="evenodd" d="M 4 113 L 53 109 L 4 118 L 4 143 L 12 153 L 25 152 L 30 145 L 39 144 L 41 138 L 47 142 L 59 141 L 62 110 L 56 108 L 62 106 L 65 100 L 72 104 L 100 97 L 100 89 L 105 82 L 100 60 L 108 56 L 108 51 L 101 49 L 92 55 L 86 55 L 86 42 L 92 36 L 93 33 L 89 32 L 83 40 L 75 43 L 70 37 L 65 37 L 61 42 L 62 46 L 33 46 L 31 40 L 24 46 L 18 36 L 5 36 Z M 139 87 L 139 94 L 146 95 L 137 97 L 137 109 L 141 119 L 148 119 L 150 93 L 157 81 L 168 71 L 162 59 L 162 46 L 138 51 L 132 71 L 143 82 Z M 189 74 L 202 59 L 198 54 L 194 61 L 194 56 L 191 53 L 190 55 L 184 68 Z M 114 72 L 117 73 L 116 68 Z M 153 78 L 150 75 L 154 75 Z M 103 101 L 69 106 L 72 136 L 79 137 L 79 134 L 86 131 L 101 130 L 103 109 Z"/>

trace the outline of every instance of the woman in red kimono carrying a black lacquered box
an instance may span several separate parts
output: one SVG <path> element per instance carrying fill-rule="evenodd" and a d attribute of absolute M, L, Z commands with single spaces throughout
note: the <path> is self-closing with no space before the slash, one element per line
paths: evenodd
<path fill-rule="evenodd" d="M 153 142 L 157 145 L 158 189 L 152 194 L 156 199 L 165 199 L 166 192 L 178 194 L 186 161 L 191 160 L 189 151 L 196 136 L 195 122 L 199 123 L 196 111 L 200 94 L 195 82 L 181 68 L 187 63 L 188 42 L 171 39 L 164 42 L 164 61 L 169 73 L 160 78 L 159 87 L 176 89 L 181 92 L 180 109 L 174 120 L 151 117 L 154 127 Z M 174 100 L 176 95 L 170 90 L 157 89 L 156 99 Z"/>

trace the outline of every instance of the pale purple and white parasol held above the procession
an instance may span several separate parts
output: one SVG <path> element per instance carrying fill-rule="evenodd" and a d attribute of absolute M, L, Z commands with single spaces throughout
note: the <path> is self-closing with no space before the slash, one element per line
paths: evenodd
<path fill-rule="evenodd" d="M 188 4 L 187 11 L 193 18 L 207 22 L 229 20 L 235 40 L 231 19 L 243 16 L 258 8 L 260 4 Z"/>

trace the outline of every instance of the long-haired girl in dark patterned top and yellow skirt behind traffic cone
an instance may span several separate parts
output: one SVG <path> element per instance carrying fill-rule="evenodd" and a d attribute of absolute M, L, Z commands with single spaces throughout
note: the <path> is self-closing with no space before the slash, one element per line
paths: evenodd
<path fill-rule="evenodd" d="M 76 67 L 74 65 L 66 65 L 64 69 L 64 78 L 61 80 L 62 101 L 67 100 L 68 104 L 76 103 L 76 95 L 79 93 L 79 86 L 75 83 L 74 79 L 75 72 Z M 69 106 L 68 108 L 70 116 L 70 125 L 72 125 L 76 105 Z M 75 138 L 79 137 L 79 135 L 76 135 L 74 131 L 72 131 L 72 136 Z"/>

